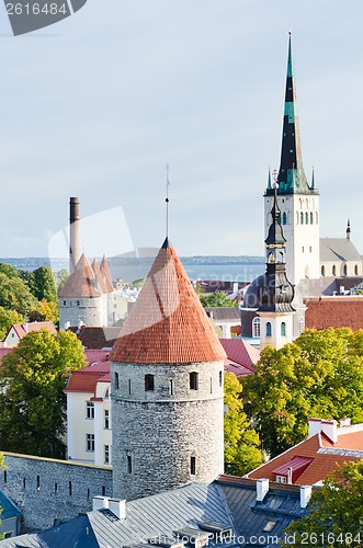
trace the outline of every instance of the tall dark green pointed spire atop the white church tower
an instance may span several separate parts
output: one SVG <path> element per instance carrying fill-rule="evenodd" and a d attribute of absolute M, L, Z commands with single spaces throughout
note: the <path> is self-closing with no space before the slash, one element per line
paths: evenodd
<path fill-rule="evenodd" d="M 280 185 L 279 194 L 305 194 L 309 193 L 311 189 L 307 183 L 303 167 L 291 32 L 288 34 L 285 110 L 277 178 Z"/>

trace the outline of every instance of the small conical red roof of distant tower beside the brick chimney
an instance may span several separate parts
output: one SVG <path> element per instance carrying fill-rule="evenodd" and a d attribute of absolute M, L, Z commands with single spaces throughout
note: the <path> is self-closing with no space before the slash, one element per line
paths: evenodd
<path fill-rule="evenodd" d="M 101 293 L 97 288 L 97 281 L 92 267 L 84 255 L 80 256 L 75 272 L 59 290 L 61 298 L 77 297 L 100 297 Z"/>

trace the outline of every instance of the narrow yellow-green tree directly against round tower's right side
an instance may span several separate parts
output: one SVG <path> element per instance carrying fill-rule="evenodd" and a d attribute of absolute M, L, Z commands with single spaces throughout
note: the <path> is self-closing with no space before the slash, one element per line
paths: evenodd
<path fill-rule="evenodd" d="M 241 400 L 242 387 L 234 373 L 225 375 L 225 467 L 241 476 L 262 464 L 258 434 L 250 426 Z"/>

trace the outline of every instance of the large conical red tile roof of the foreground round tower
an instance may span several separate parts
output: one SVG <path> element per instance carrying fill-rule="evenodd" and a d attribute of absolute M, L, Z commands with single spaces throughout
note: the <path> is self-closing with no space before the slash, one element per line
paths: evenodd
<path fill-rule="evenodd" d="M 183 364 L 225 357 L 182 263 L 166 239 L 110 359 Z"/>

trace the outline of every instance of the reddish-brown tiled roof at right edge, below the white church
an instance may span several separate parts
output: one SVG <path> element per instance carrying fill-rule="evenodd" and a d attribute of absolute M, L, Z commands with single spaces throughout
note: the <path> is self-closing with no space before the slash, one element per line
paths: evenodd
<path fill-rule="evenodd" d="M 363 296 L 307 298 L 305 305 L 306 328 L 363 328 Z"/>

